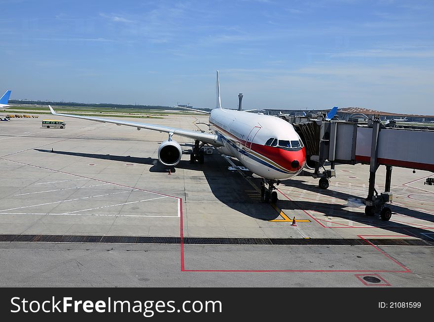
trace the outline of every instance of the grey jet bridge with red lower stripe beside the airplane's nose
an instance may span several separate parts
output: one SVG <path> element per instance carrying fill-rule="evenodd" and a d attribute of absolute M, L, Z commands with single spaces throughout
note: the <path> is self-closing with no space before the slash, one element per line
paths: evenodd
<path fill-rule="evenodd" d="M 366 215 L 380 213 L 383 220 L 391 218 L 392 211 L 384 205 L 393 200 L 390 192 L 392 167 L 434 172 L 433 130 L 386 127 L 375 116 L 367 124 L 300 117 L 286 119 L 305 143 L 311 170 L 314 170 L 312 177 L 320 178 L 321 188 L 328 188 L 329 179 L 336 176 L 336 163 L 370 165 Z M 324 167 L 327 161 L 329 170 Z M 375 174 L 380 165 L 386 166 L 386 184 L 385 191 L 378 194 Z"/>

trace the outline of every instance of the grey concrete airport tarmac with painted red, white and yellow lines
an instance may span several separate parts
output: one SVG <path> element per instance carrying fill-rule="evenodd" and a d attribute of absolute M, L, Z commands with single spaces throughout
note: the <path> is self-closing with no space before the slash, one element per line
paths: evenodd
<path fill-rule="evenodd" d="M 393 168 L 383 221 L 364 214 L 368 165 L 337 165 L 327 190 L 302 173 L 264 204 L 260 179 L 216 151 L 169 173 L 165 133 L 44 118 L 0 123 L 2 286 L 434 286 L 430 172 Z M 204 116 L 133 120 L 207 130 Z"/>

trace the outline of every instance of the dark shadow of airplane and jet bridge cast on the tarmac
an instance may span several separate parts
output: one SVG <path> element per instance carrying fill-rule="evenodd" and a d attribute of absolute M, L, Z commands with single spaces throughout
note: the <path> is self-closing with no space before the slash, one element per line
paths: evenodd
<path fill-rule="evenodd" d="M 92 159 L 105 159 L 128 163 L 147 164 L 152 165 L 152 167 L 150 167 L 149 169 L 149 172 L 155 173 L 167 173 L 169 170 L 169 167 L 161 165 L 157 159 L 153 159 L 150 157 L 140 158 L 111 154 L 51 151 L 46 149 L 35 150 L 39 152 L 72 155 Z M 231 160 L 235 163 L 235 165 L 242 166 L 241 162 L 239 162 L 238 160 Z M 250 185 L 250 183 L 247 182 L 247 180 L 245 180 L 243 176 L 241 176 L 237 171 L 228 170 L 229 167 L 230 164 L 226 162 L 226 160 L 224 160 L 224 158 L 218 153 L 206 155 L 205 164 L 199 164 L 197 162 L 191 164 L 190 161 L 181 160 L 181 162 L 177 165 L 177 168 L 179 169 L 203 171 L 214 196 L 220 202 L 227 205 L 231 209 L 264 221 L 280 218 L 280 215 L 269 204 L 265 204 L 260 201 L 260 194 L 253 188 L 253 186 Z M 170 169 L 172 173 L 176 172 L 176 168 L 170 167 Z M 252 177 L 252 173 L 250 171 L 246 171 L 244 173 L 253 182 L 253 184 L 259 187 L 259 178 Z M 302 172 L 302 175 L 310 177 L 308 173 Z M 365 196 L 350 195 L 331 189 L 324 190 L 319 188 L 317 185 L 308 184 L 306 181 L 300 179 L 285 180 L 282 181 L 281 184 L 284 184 L 286 186 L 294 186 L 314 193 L 320 193 L 330 198 L 337 198 L 346 202 L 351 199 L 354 200 L 355 198 L 365 198 Z M 186 196 L 188 199 L 188 193 L 186 193 Z M 428 230 L 416 228 L 403 223 L 383 221 L 379 218 L 379 215 L 366 216 L 364 215 L 364 213 L 352 212 L 345 209 L 348 206 L 349 204 L 339 205 L 315 201 L 290 201 L 286 199 L 279 200 L 277 203 L 277 207 L 284 210 L 315 210 L 324 213 L 325 215 L 332 215 L 334 217 L 348 219 L 353 222 L 382 228 L 392 232 L 406 234 L 425 240 L 432 240 L 432 238 L 422 234 L 429 232 Z M 390 207 L 395 213 L 409 215 L 423 220 L 434 221 L 432 215 L 425 214 L 416 210 L 406 209 L 395 205 L 389 205 L 388 207 Z"/>

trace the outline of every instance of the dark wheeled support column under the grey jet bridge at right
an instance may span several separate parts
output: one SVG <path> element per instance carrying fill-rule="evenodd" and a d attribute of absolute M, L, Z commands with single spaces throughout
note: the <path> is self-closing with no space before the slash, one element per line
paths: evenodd
<path fill-rule="evenodd" d="M 378 135 L 380 133 L 381 121 L 375 115 L 372 120 L 372 141 L 371 141 L 371 159 L 369 166 L 369 188 L 368 196 L 365 199 L 364 213 L 366 215 L 374 215 L 380 213 L 383 220 L 389 220 L 392 216 L 392 211 L 388 207 L 384 207 L 385 203 L 392 201 L 392 193 L 390 193 L 390 185 L 392 179 L 392 166 L 386 166 L 386 183 L 385 192 L 378 196 L 375 190 L 375 175 L 377 172 L 378 164 Z M 374 195 L 375 194 L 375 195 Z"/>

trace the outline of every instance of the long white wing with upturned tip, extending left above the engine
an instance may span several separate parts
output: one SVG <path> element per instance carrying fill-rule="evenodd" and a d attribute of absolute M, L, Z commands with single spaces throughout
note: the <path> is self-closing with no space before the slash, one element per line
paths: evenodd
<path fill-rule="evenodd" d="M 202 133 L 202 132 L 193 131 L 193 130 L 183 130 L 183 129 L 178 129 L 175 127 L 163 126 L 163 125 L 157 125 L 157 124 L 121 121 L 121 120 L 113 120 L 113 119 L 109 119 L 109 118 L 91 117 L 91 116 L 74 115 L 74 114 L 62 114 L 62 113 L 56 113 L 56 111 L 51 106 L 48 106 L 48 107 L 50 107 L 51 114 L 53 114 L 53 115 L 81 118 L 84 120 L 103 122 L 103 123 L 113 123 L 116 125 L 127 125 L 127 126 L 135 127 L 138 130 L 147 129 L 147 130 L 154 130 L 154 131 L 160 131 L 160 132 L 165 132 L 165 133 L 173 133 L 173 134 L 177 134 L 181 137 L 185 137 L 185 138 L 189 138 L 189 139 L 193 139 L 193 140 L 199 140 L 199 141 L 202 141 L 204 143 L 212 144 L 214 146 L 222 146 L 223 145 L 223 143 L 221 142 L 221 139 L 217 135 L 211 134 L 211 133 Z"/>

